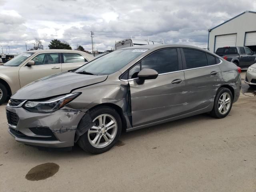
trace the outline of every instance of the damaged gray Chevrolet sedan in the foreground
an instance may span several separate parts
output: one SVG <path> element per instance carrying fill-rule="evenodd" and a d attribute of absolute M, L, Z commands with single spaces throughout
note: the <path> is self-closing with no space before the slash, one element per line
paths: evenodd
<path fill-rule="evenodd" d="M 224 118 L 240 95 L 240 72 L 194 46 L 116 50 L 18 90 L 6 106 L 8 131 L 24 144 L 64 148 L 77 142 L 99 154 L 122 131 L 206 112 Z"/>

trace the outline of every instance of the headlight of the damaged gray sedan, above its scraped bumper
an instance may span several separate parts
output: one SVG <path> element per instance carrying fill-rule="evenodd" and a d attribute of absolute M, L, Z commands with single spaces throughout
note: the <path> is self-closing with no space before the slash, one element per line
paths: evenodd
<path fill-rule="evenodd" d="M 68 104 L 78 95 L 80 95 L 80 93 L 71 93 L 65 96 L 62 95 L 46 101 L 27 101 L 23 107 L 30 112 L 53 112 Z"/>

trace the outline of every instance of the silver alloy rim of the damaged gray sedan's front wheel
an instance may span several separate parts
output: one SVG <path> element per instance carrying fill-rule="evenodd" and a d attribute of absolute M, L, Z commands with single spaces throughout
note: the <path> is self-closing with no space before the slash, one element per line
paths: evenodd
<path fill-rule="evenodd" d="M 96 117 L 92 122 L 94 122 L 94 126 L 88 130 L 88 140 L 90 144 L 95 148 L 108 146 L 116 137 L 116 119 L 109 114 L 102 114 Z"/>

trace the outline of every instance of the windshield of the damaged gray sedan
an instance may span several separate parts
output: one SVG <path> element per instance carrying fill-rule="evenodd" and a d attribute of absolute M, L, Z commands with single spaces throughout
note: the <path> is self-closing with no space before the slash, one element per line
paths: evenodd
<path fill-rule="evenodd" d="M 78 68 L 75 73 L 109 75 L 126 66 L 148 49 L 124 49 L 110 52 Z"/>

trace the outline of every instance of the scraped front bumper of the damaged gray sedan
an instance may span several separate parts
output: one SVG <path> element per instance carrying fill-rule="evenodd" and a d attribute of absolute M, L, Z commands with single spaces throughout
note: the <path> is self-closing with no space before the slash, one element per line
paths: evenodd
<path fill-rule="evenodd" d="M 52 113 L 33 113 L 10 106 L 6 110 L 17 116 L 17 121 L 8 119 L 8 132 L 17 142 L 52 148 L 74 146 L 76 128 L 85 114 L 67 107 Z"/>

